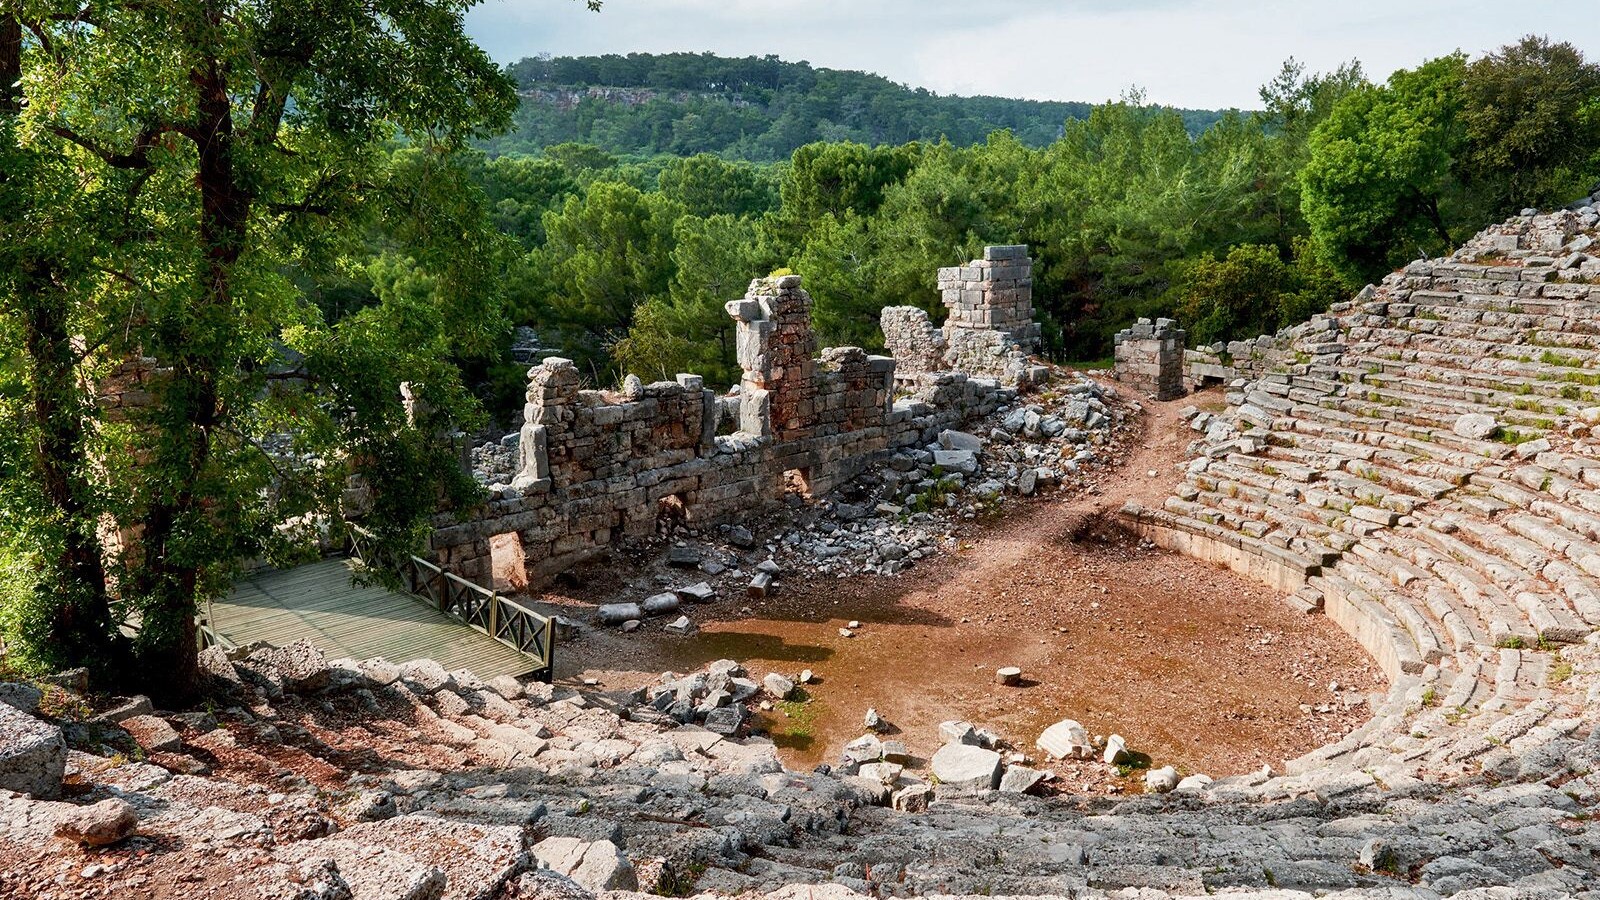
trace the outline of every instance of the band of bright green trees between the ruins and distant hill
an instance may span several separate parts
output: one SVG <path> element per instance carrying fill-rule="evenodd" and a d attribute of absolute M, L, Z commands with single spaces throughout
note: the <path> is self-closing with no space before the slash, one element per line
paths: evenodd
<path fill-rule="evenodd" d="M 534 62 L 538 77 L 670 80 L 645 59 Z M 701 82 L 685 67 L 678 83 L 770 90 L 794 72 L 744 62 Z M 934 269 L 1010 242 L 1037 259 L 1046 352 L 1088 360 L 1134 315 L 1176 315 L 1198 341 L 1304 320 L 1525 205 L 1584 194 L 1600 175 L 1597 72 L 1570 45 L 1526 38 L 1384 82 L 1291 61 L 1258 112 L 1198 135 L 1130 94 L 1037 147 L 1005 130 L 973 146 L 819 141 L 757 165 L 568 143 L 472 165 L 523 250 L 512 317 L 598 383 L 733 381 L 722 304 L 774 269 L 805 277 L 827 343 L 880 346 L 880 307 L 939 317 Z M 517 378 L 498 380 L 502 407 Z"/>

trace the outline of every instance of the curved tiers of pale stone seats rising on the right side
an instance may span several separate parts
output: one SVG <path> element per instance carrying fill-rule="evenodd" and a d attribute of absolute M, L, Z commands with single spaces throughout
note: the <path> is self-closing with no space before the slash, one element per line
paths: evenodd
<path fill-rule="evenodd" d="M 1592 730 L 1563 649 L 1600 628 L 1600 259 L 1592 207 L 1525 215 L 1254 346 L 1157 543 L 1322 610 L 1387 703 L 1291 764 L 1394 783 L 1475 775 Z"/>

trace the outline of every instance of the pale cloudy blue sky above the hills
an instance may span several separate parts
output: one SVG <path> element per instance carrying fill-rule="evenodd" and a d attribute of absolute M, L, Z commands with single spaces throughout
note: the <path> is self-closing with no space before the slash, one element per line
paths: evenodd
<path fill-rule="evenodd" d="M 467 29 L 496 59 L 674 50 L 776 53 L 939 93 L 1250 107 L 1288 56 L 1370 75 L 1534 32 L 1600 58 L 1597 0 L 486 0 Z"/>

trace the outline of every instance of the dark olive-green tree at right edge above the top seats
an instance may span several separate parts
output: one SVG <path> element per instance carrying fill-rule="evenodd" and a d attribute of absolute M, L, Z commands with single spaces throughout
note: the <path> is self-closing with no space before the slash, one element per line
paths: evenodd
<path fill-rule="evenodd" d="M 1558 207 L 1600 176 L 1600 66 L 1528 35 L 1474 59 L 1462 82 L 1461 176 L 1491 215 Z"/>

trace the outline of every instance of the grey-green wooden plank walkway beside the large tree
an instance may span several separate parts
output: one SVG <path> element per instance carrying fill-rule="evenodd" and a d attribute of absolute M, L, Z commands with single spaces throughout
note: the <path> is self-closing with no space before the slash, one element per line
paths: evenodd
<path fill-rule="evenodd" d="M 330 660 L 437 660 L 478 677 L 526 674 L 538 661 L 438 612 L 427 601 L 350 581 L 350 559 L 325 559 L 238 581 L 211 604 L 211 626 L 234 645 L 307 639 Z"/>

